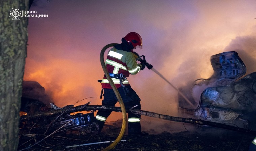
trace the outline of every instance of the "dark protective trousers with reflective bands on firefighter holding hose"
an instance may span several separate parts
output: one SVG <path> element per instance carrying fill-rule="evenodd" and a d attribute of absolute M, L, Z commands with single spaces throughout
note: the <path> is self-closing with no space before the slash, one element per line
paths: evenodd
<path fill-rule="evenodd" d="M 140 98 L 136 94 L 136 92 L 131 88 L 131 86 L 125 86 L 125 90 L 123 87 L 118 88 L 118 92 L 124 102 L 125 108 L 131 108 L 136 105 L 134 109 L 141 109 Z M 128 92 L 127 92 L 128 90 Z M 118 102 L 117 97 L 113 91 L 113 89 L 104 89 L 104 99 L 102 100 L 102 105 L 106 106 L 115 106 Z M 111 114 L 112 111 L 98 111 L 96 115 L 97 122 L 99 123 L 99 131 L 104 126 L 104 123 L 107 117 Z M 141 125 L 140 125 L 140 115 L 128 113 L 128 134 L 141 134 Z"/>

